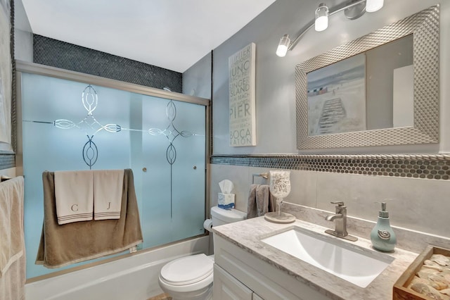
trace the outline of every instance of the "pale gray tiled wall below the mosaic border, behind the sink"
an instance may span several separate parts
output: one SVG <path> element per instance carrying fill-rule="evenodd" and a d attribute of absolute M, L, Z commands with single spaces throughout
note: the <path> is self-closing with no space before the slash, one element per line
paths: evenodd
<path fill-rule="evenodd" d="M 217 205 L 218 183 L 229 179 L 234 185 L 236 209 L 247 211 L 248 192 L 255 173 L 269 168 L 243 165 L 211 165 L 210 204 Z M 391 224 L 431 235 L 450 237 L 450 182 L 409 177 L 389 177 L 290 170 L 291 192 L 285 202 L 334 212 L 330 201 L 344 201 L 348 215 L 375 222 L 380 202 L 387 202 Z M 255 177 L 256 184 L 268 180 Z"/>

